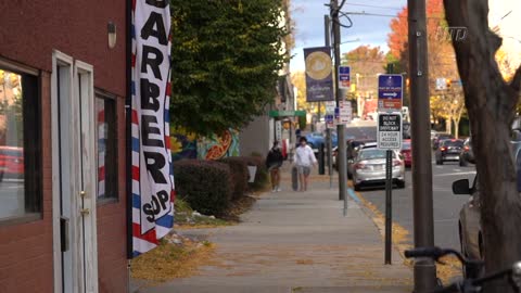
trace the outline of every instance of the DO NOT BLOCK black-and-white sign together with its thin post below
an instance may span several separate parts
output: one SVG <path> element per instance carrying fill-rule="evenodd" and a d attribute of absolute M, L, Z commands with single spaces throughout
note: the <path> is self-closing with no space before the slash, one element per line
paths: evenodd
<path fill-rule="evenodd" d="M 391 265 L 393 233 L 393 152 L 402 149 L 402 113 L 378 115 L 378 149 L 385 154 L 385 265 Z"/>

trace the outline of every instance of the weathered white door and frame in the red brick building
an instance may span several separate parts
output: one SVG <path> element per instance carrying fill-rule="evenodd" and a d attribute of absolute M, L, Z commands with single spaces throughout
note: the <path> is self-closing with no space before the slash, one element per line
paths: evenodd
<path fill-rule="evenodd" d="M 98 292 L 92 66 L 53 54 L 54 292 Z"/>

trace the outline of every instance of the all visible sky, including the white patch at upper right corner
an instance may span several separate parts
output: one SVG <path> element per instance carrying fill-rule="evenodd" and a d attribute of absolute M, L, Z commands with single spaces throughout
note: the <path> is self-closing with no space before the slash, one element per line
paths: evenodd
<path fill-rule="evenodd" d="M 342 2 L 342 0 L 339 0 Z M 304 48 L 320 47 L 325 44 L 323 15 L 329 14 L 325 4 L 329 0 L 292 0 L 292 18 L 295 22 L 295 48 L 290 63 L 291 72 L 304 71 Z M 407 0 L 347 0 L 343 12 L 383 14 L 390 16 L 350 15 L 353 27 L 341 28 L 341 52 L 346 53 L 358 46 L 379 46 L 387 52 L 387 34 L 390 33 L 391 15 L 396 15 Z M 510 13 L 509 13 L 510 12 Z M 506 16 L 505 16 L 506 15 Z M 521 63 L 521 18 L 520 0 L 491 0 L 490 25 L 498 25 L 504 38 L 504 48 L 513 59 L 513 65 Z M 343 24 L 348 24 L 342 18 Z"/>

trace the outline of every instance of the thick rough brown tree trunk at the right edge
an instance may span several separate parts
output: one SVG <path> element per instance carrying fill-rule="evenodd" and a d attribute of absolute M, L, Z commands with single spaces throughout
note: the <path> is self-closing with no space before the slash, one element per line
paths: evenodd
<path fill-rule="evenodd" d="M 488 28 L 487 0 L 444 0 L 444 4 L 448 25 L 468 29 L 467 38 L 453 44 L 478 158 L 485 271 L 491 273 L 521 259 L 521 198 L 510 150 L 521 68 L 511 84 L 503 79 L 494 59 L 501 40 Z M 514 292 L 505 280 L 484 289 Z"/>

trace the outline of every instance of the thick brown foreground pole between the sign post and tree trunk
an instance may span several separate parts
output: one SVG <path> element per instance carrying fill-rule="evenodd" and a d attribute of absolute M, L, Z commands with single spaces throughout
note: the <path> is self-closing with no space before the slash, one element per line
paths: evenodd
<path fill-rule="evenodd" d="M 434 245 L 432 208 L 432 163 L 430 145 L 429 68 L 425 0 L 408 0 L 410 116 L 412 143 L 412 200 L 415 247 Z M 415 260 L 415 293 L 431 292 L 436 285 L 436 267 L 431 258 Z"/>

